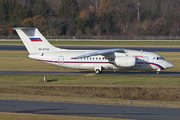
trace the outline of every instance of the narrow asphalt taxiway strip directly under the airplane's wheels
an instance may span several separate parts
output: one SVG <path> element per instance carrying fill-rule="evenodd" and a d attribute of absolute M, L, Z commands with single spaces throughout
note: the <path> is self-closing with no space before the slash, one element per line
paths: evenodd
<path fill-rule="evenodd" d="M 114 72 L 103 71 L 101 74 L 95 74 L 94 72 L 42 72 L 42 71 L 0 71 L 0 75 L 79 75 L 79 76 L 154 76 L 154 77 L 180 77 L 179 72 L 160 72 L 159 75 L 156 72 Z"/>

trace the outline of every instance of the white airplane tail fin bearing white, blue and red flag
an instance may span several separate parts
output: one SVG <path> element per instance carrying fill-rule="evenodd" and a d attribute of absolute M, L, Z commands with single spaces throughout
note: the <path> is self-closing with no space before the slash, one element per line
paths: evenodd
<path fill-rule="evenodd" d="M 60 50 L 52 46 L 37 28 L 12 28 L 16 30 L 30 54 Z"/>

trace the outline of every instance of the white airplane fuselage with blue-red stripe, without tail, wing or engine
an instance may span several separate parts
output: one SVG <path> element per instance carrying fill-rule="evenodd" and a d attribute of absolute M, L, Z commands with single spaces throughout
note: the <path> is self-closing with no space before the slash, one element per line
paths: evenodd
<path fill-rule="evenodd" d="M 164 60 L 160 55 L 151 52 L 123 49 L 124 52 L 114 52 L 107 55 L 97 55 L 72 59 L 75 56 L 94 52 L 95 50 L 59 50 L 29 55 L 29 58 L 43 61 L 49 64 L 72 68 L 72 69 L 94 69 L 101 66 L 103 70 L 157 70 L 168 69 L 173 65 Z M 135 65 L 122 67 L 114 63 L 118 57 L 135 57 Z"/>

